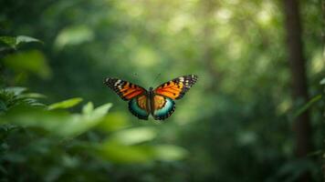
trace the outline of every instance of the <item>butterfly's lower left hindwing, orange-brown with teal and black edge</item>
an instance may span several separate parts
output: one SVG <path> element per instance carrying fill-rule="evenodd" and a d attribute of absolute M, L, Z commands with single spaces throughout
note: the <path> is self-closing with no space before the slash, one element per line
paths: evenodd
<path fill-rule="evenodd" d="M 140 119 L 147 120 L 149 116 L 149 108 L 147 107 L 148 97 L 145 95 L 132 98 L 129 102 L 129 110 L 131 114 Z"/>

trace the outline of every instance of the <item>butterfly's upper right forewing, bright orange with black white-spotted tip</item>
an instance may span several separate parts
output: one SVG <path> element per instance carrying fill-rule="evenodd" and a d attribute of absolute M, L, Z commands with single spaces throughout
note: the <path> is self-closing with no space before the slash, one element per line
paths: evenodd
<path fill-rule="evenodd" d="M 197 76 L 188 75 L 174 78 L 173 80 L 163 83 L 154 89 L 154 94 L 167 96 L 172 99 L 180 99 L 197 81 Z"/>

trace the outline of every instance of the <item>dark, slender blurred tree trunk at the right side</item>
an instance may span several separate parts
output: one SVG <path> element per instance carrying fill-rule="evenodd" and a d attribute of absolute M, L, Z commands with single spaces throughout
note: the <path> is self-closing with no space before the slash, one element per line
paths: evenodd
<path fill-rule="evenodd" d="M 301 25 L 299 17 L 299 0 L 285 0 L 285 16 L 288 39 L 288 61 L 291 69 L 292 97 L 294 101 L 308 101 L 308 85 L 306 76 L 305 58 L 301 40 Z M 311 128 L 308 110 L 296 117 L 294 121 L 296 136 L 297 157 L 307 157 L 312 150 Z M 305 173 L 299 181 L 310 181 L 310 176 Z"/>

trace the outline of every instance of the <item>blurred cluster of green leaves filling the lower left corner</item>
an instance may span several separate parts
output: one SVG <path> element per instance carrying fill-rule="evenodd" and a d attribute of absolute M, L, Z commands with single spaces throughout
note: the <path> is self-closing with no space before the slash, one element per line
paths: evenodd
<path fill-rule="evenodd" d="M 22 87 L 0 91 L 2 181 L 106 181 L 113 177 L 101 170 L 111 164 L 173 161 L 186 154 L 181 147 L 148 144 L 157 135 L 154 127 L 111 121 L 111 104 L 94 108 L 89 102 L 78 114 L 67 109 L 80 98 L 46 106 L 39 96 Z"/>

